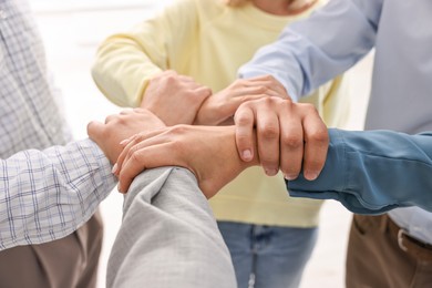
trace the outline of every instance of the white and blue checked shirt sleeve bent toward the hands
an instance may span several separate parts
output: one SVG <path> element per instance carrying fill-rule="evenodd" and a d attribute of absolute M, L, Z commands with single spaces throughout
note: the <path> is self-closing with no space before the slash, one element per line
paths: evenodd
<path fill-rule="evenodd" d="M 109 161 L 91 140 L 1 160 L 0 250 L 71 234 L 114 185 Z"/>

